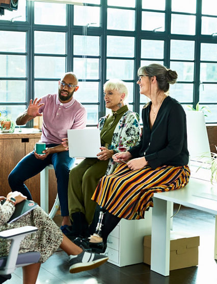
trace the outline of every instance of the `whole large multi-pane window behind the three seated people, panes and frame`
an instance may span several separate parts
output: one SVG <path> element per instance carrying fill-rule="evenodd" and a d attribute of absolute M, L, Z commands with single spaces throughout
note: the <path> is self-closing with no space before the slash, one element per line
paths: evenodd
<path fill-rule="evenodd" d="M 103 84 L 112 78 L 126 82 L 129 108 L 141 113 L 147 98 L 137 70 L 159 63 L 178 74 L 170 95 L 183 106 L 208 106 L 206 122 L 217 122 L 215 0 L 86 3 L 23 0 L 0 16 L 0 110 L 15 120 L 30 99 L 57 93 L 62 75 L 73 71 L 79 79 L 74 98 L 86 107 L 88 125 L 110 112 Z"/>

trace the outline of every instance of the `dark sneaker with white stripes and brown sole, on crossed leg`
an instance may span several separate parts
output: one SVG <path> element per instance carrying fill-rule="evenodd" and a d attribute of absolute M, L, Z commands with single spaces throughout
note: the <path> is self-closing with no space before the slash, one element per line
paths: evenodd
<path fill-rule="evenodd" d="M 105 263 L 107 259 L 108 257 L 105 255 L 99 255 L 85 250 L 77 255 L 69 255 L 69 272 L 77 273 L 96 268 Z"/>

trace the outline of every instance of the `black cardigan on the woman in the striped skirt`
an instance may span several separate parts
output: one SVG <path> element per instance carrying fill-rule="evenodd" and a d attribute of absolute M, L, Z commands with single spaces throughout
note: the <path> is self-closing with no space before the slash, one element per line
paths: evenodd
<path fill-rule="evenodd" d="M 176 167 L 188 163 L 186 115 L 181 104 L 171 97 L 165 98 L 150 129 L 151 102 L 142 110 L 143 135 L 138 146 L 128 152 L 133 158 L 144 157 L 152 169 L 161 165 Z"/>

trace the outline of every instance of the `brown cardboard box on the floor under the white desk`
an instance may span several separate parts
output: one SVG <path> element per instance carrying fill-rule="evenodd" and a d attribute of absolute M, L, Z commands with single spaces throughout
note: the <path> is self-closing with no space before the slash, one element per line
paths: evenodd
<path fill-rule="evenodd" d="M 200 236 L 189 236 L 183 232 L 171 232 L 170 270 L 198 265 Z M 151 235 L 144 237 L 143 262 L 151 265 Z"/>

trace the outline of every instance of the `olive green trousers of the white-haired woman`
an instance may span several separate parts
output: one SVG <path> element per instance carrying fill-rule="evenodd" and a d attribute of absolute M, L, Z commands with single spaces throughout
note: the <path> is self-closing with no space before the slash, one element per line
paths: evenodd
<path fill-rule="evenodd" d="M 86 158 L 69 173 L 68 200 L 69 216 L 75 212 L 83 212 L 88 224 L 92 223 L 97 203 L 91 200 L 96 186 L 105 175 L 108 160 Z"/>

